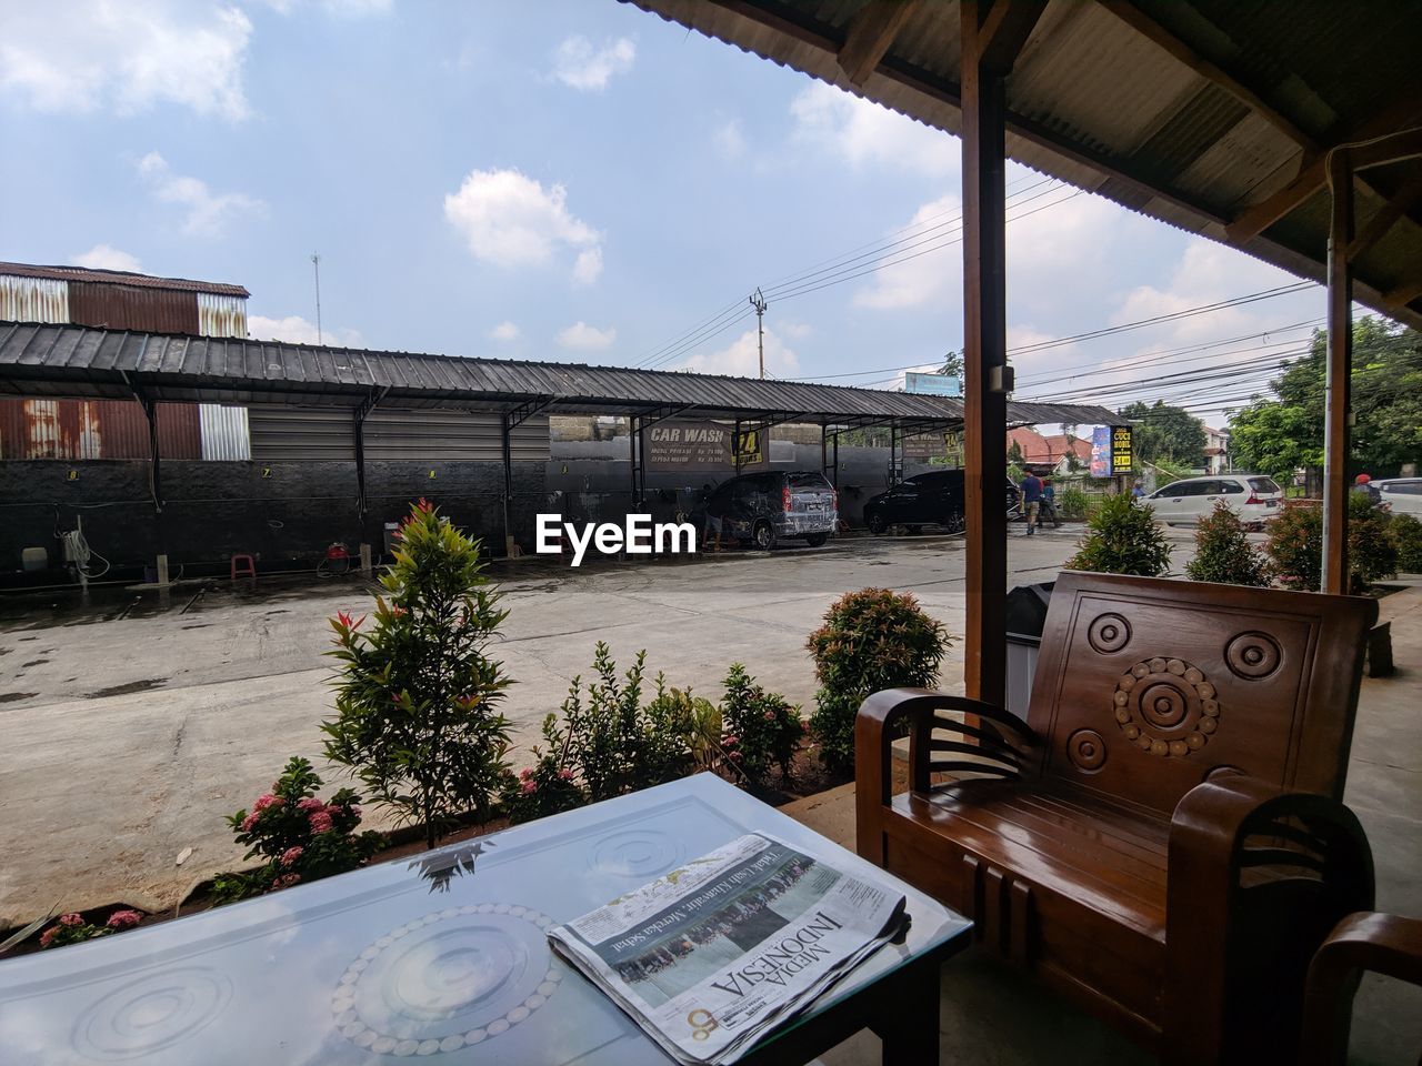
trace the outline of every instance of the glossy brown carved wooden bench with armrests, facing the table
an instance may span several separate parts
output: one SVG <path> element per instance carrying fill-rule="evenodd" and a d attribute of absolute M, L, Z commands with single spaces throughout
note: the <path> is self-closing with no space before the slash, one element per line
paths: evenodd
<path fill-rule="evenodd" d="M 1341 796 L 1375 617 L 1064 573 L 1025 723 L 927 689 L 865 701 L 859 853 L 1166 1062 L 1293 1060 L 1313 952 L 1372 908 Z"/>

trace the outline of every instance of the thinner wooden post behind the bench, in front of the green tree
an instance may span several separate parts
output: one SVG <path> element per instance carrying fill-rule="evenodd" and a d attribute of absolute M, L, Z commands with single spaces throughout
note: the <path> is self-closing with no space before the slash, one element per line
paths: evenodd
<path fill-rule="evenodd" d="M 1352 161 L 1328 156 L 1332 220 L 1328 229 L 1328 378 L 1324 411 L 1322 591 L 1348 593 L 1348 424 L 1352 419 Z"/>

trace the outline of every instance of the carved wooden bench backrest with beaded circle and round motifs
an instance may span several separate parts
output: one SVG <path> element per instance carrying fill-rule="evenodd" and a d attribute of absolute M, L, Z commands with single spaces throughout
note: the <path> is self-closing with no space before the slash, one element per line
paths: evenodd
<path fill-rule="evenodd" d="M 1028 723 L 1042 775 L 1162 813 L 1221 768 L 1341 797 L 1372 600 L 1065 571 Z"/>

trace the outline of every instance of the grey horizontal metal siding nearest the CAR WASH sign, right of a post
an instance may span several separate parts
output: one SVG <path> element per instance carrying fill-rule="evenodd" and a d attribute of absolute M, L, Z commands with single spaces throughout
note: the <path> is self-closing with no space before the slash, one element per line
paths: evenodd
<path fill-rule="evenodd" d="M 468 411 L 375 408 L 365 418 L 365 458 L 503 462 L 502 425 L 499 415 Z M 515 462 L 547 461 L 547 416 L 535 416 L 513 428 L 509 443 Z"/>

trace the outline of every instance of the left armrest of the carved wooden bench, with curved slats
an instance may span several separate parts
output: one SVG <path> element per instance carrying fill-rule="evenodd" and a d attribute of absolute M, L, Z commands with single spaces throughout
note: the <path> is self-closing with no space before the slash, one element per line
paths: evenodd
<path fill-rule="evenodd" d="M 975 715 L 978 725 L 967 725 L 940 718 L 936 712 L 951 711 Z M 995 760 L 995 766 L 975 765 L 984 772 L 1017 776 L 1017 758 L 1031 752 L 1037 733 L 1020 718 L 1003 708 L 968 696 L 953 696 L 927 688 L 889 688 L 875 692 L 860 706 L 855 719 L 855 816 L 859 854 L 883 864 L 883 816 L 893 787 L 893 741 L 897 725 L 909 722 L 910 785 L 926 787 L 931 748 L 956 753 L 977 753 Z M 934 729 L 946 729 L 975 741 L 934 741 Z M 950 765 L 940 765 L 950 769 Z"/>

